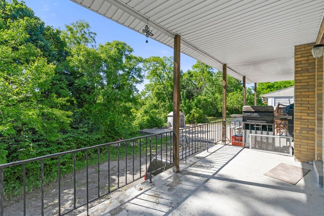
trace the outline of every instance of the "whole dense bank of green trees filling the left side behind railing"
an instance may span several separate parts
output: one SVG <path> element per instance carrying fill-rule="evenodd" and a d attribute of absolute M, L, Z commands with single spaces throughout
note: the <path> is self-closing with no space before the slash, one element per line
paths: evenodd
<path fill-rule="evenodd" d="M 24 2 L 0 0 L 1 162 L 134 132 L 143 59 L 121 41 L 95 46 L 88 23 L 61 31 Z"/>

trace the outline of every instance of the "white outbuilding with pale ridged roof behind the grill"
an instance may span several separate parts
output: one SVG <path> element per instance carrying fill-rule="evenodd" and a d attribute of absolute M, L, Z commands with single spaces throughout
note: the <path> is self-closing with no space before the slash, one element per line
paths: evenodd
<path fill-rule="evenodd" d="M 273 106 L 274 108 L 277 107 L 278 103 L 289 105 L 294 103 L 294 87 L 295 86 L 291 86 L 288 88 L 269 92 L 262 95 L 261 97 L 267 98 L 268 106 Z"/>

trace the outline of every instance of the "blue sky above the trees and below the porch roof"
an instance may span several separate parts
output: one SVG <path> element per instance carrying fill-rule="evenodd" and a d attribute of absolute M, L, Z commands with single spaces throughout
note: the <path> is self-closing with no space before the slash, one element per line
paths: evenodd
<path fill-rule="evenodd" d="M 170 47 L 153 39 L 149 39 L 149 43 L 146 43 L 144 34 L 131 30 L 70 0 L 24 1 L 35 12 L 35 15 L 40 17 L 46 25 L 51 25 L 55 28 L 64 29 L 65 24 L 70 24 L 77 20 L 89 22 L 91 30 L 97 33 L 97 44 L 121 40 L 130 45 L 134 49 L 134 54 L 137 56 L 150 57 L 173 55 L 173 49 Z M 190 69 L 191 66 L 196 63 L 194 58 L 185 54 L 181 54 L 180 59 L 181 69 L 183 71 Z M 142 90 L 144 84 L 137 86 L 138 89 Z"/>

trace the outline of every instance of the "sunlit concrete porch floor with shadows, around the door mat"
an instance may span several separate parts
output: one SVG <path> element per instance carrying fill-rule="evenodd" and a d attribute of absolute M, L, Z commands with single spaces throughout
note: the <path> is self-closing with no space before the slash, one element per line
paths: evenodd
<path fill-rule="evenodd" d="M 296 185 L 263 174 L 286 163 L 310 169 Z M 313 165 L 220 144 L 90 209 L 90 216 L 322 216 Z M 80 216 L 84 216 L 85 213 Z"/>

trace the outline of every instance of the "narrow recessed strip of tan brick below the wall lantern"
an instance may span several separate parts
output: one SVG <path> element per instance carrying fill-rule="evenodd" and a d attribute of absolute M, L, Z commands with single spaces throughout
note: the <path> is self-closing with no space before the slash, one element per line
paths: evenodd
<path fill-rule="evenodd" d="M 323 159 L 323 57 L 315 59 L 316 65 L 316 128 L 315 160 Z"/>

